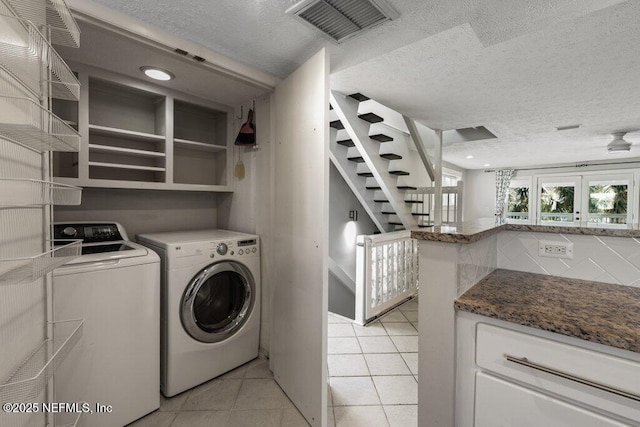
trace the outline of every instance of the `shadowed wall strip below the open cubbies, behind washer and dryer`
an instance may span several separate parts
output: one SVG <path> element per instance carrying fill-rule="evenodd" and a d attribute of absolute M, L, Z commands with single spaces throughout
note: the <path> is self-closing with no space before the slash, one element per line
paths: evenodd
<path fill-rule="evenodd" d="M 216 228 L 216 195 L 206 192 L 85 188 L 80 206 L 56 206 L 53 220 L 116 221 L 136 234 Z"/>

